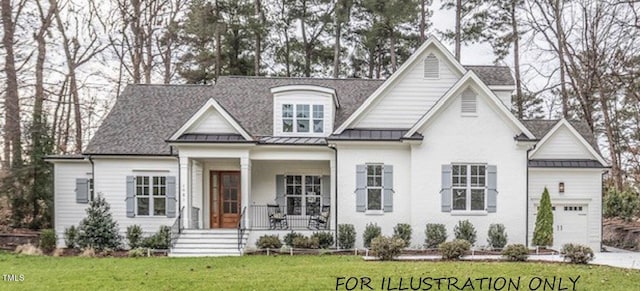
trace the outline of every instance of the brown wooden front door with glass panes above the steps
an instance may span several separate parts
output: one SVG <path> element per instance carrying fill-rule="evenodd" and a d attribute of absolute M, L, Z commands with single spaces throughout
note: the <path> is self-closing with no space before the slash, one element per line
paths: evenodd
<path fill-rule="evenodd" d="M 218 172 L 217 174 L 218 199 L 211 199 L 212 209 L 216 208 L 217 211 L 211 211 L 211 227 L 236 228 L 241 212 L 240 172 Z M 211 190 L 211 193 L 215 192 L 214 189 Z"/>

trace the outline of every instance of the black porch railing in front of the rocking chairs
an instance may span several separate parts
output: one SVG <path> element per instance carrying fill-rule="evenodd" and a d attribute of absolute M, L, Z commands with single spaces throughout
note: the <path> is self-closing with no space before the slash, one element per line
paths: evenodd
<path fill-rule="evenodd" d="M 255 230 L 264 230 L 264 229 L 272 229 L 272 230 L 282 230 L 282 229 L 290 229 L 290 230 L 302 230 L 302 229 L 317 229 L 313 223 L 310 222 L 310 218 L 314 215 L 294 215 L 287 214 L 283 218 L 279 218 L 277 221 L 274 221 L 269 217 L 271 212 L 274 212 L 274 209 L 270 209 L 273 206 L 267 205 L 251 205 L 250 209 L 250 219 L 251 219 L 251 229 Z M 279 206 L 278 210 L 275 212 L 286 214 L 286 209 L 284 206 Z M 281 221 L 283 219 L 284 221 Z M 330 222 L 326 223 L 320 230 L 328 230 L 330 229 Z"/>

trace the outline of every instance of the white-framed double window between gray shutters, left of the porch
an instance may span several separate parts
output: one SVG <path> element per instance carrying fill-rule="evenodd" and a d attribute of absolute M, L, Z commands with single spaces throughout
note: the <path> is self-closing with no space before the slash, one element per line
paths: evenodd
<path fill-rule="evenodd" d="M 167 213 L 167 177 L 135 177 L 136 213 L 142 216 L 164 216 Z"/>

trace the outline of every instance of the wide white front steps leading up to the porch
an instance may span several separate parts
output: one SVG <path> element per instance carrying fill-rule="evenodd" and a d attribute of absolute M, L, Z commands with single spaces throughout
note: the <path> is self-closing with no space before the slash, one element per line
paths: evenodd
<path fill-rule="evenodd" d="M 247 243 L 248 231 L 242 238 Z M 184 229 L 176 244 L 169 250 L 170 257 L 240 256 L 237 229 Z"/>

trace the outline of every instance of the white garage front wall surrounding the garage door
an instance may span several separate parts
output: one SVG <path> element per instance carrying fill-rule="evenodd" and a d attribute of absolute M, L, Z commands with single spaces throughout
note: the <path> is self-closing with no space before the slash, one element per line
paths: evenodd
<path fill-rule="evenodd" d="M 558 183 L 564 182 L 565 192 L 558 192 Z M 533 238 L 536 206 L 547 187 L 554 205 L 588 204 L 588 241 L 576 243 L 600 250 L 602 225 L 602 170 L 600 169 L 537 169 L 529 170 L 529 241 Z M 560 246 L 556 245 L 559 248 Z"/>

